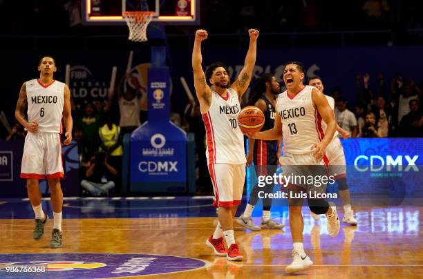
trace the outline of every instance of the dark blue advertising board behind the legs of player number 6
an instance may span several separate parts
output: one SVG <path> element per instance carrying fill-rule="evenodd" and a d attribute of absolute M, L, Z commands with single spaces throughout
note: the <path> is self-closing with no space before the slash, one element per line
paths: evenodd
<path fill-rule="evenodd" d="M 0 198 L 26 198 L 26 180 L 21 179 L 23 141 L 0 142 Z M 64 196 L 79 195 L 79 155 L 76 142 L 62 147 Z M 39 180 L 41 193 L 48 193 L 46 180 Z M 45 195 L 48 196 L 48 195 Z"/>

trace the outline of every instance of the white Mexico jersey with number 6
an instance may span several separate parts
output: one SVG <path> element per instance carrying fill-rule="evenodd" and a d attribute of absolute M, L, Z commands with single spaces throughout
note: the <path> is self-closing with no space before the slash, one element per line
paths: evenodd
<path fill-rule="evenodd" d="M 39 79 L 26 81 L 28 122 L 38 122 L 39 132 L 62 133 L 64 85 L 57 80 L 47 86 Z"/>

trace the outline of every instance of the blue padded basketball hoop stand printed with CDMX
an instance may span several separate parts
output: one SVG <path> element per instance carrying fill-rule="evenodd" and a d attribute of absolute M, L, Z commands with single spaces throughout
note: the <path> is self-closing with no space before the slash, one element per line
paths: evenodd
<path fill-rule="evenodd" d="M 131 191 L 187 191 L 187 136 L 169 121 L 169 85 L 168 68 L 149 67 L 149 120 L 131 134 Z"/>

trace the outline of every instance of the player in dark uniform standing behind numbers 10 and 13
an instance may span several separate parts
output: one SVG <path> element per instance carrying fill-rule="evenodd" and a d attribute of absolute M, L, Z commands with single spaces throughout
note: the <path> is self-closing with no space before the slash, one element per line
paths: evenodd
<path fill-rule="evenodd" d="M 268 130 L 274 126 L 274 115 L 276 105 L 275 97 L 280 93 L 279 82 L 276 77 L 271 73 L 266 73 L 254 84 L 254 88 L 250 93 L 251 97 L 248 102 L 250 106 L 256 106 L 263 111 L 265 115 L 265 124 L 262 130 Z M 248 155 L 247 155 L 247 166 L 251 166 L 254 161 L 254 169 L 256 175 L 273 175 L 276 173 L 276 167 L 279 160 L 281 140 L 264 141 L 250 139 L 248 144 Z M 251 218 L 254 206 L 259 201 L 259 191 L 265 193 L 273 193 L 274 184 L 266 184 L 264 188 L 261 188 L 259 184 L 256 184 L 250 193 L 250 200 L 245 207 L 243 215 L 236 220 L 238 224 L 252 231 L 259 231 L 260 229 L 282 229 L 283 224 L 272 220 L 270 218 L 270 208 L 272 206 L 272 199 L 268 198 L 267 195 L 263 198 L 263 218 L 261 219 L 261 225 L 256 226 Z"/>

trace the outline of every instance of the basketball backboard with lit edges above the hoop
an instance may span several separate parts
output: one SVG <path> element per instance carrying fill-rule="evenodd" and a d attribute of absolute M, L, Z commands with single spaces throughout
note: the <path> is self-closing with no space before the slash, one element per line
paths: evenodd
<path fill-rule="evenodd" d="M 124 25 L 122 12 L 149 10 L 152 21 L 163 24 L 198 25 L 199 0 L 83 0 L 84 25 Z"/>

